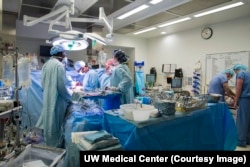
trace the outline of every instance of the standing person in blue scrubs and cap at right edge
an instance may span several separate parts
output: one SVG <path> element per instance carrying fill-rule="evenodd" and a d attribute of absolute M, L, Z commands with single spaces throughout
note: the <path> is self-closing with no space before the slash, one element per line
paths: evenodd
<path fill-rule="evenodd" d="M 238 107 L 236 126 L 238 130 L 238 146 L 250 145 L 250 72 L 242 64 L 233 67 L 236 73 L 236 97 L 234 107 Z"/>

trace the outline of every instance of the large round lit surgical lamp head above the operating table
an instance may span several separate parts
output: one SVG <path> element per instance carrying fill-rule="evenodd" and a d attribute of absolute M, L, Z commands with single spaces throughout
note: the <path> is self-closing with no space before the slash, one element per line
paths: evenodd
<path fill-rule="evenodd" d="M 86 49 L 89 46 L 89 43 L 85 40 L 68 40 L 62 38 L 56 38 L 52 42 L 53 46 L 60 45 L 65 50 L 68 51 L 77 51 Z"/>

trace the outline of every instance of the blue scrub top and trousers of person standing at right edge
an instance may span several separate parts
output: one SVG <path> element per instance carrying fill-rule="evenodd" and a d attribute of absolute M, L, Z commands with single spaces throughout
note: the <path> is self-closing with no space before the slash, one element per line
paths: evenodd
<path fill-rule="evenodd" d="M 250 144 L 250 72 L 240 71 L 236 80 L 243 80 L 242 91 L 239 98 L 239 109 L 237 111 L 236 126 L 238 131 L 238 145 Z"/>

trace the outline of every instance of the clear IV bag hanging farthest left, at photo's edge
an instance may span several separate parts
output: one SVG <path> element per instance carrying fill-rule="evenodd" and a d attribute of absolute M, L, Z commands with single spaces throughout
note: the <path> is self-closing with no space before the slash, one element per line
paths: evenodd
<path fill-rule="evenodd" d="M 5 86 L 10 87 L 14 80 L 13 58 L 11 55 L 3 56 L 2 80 Z"/>

